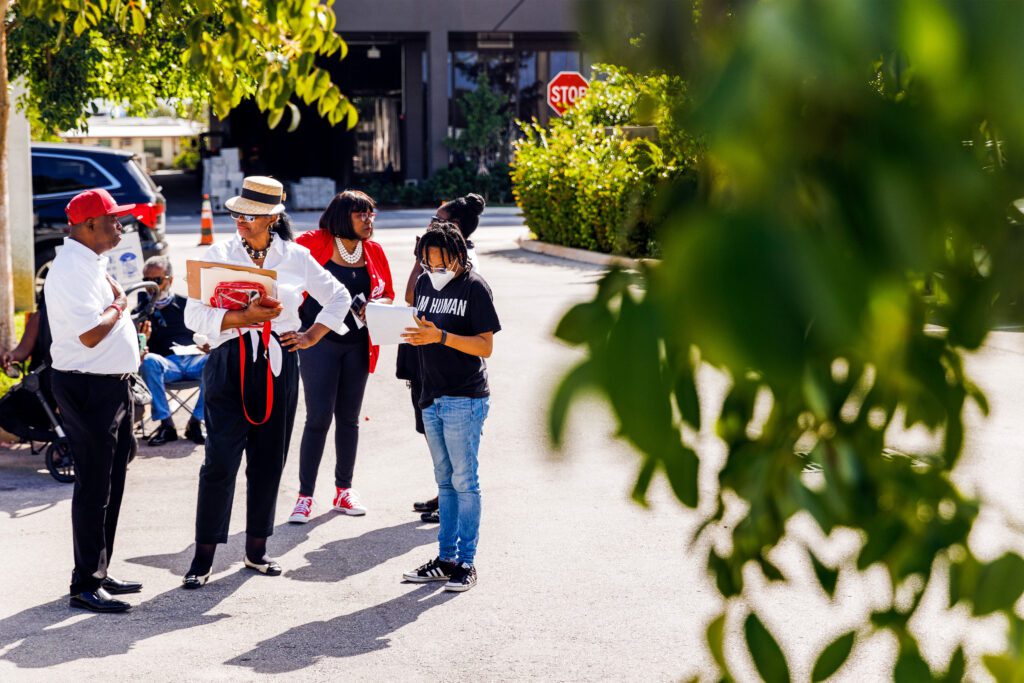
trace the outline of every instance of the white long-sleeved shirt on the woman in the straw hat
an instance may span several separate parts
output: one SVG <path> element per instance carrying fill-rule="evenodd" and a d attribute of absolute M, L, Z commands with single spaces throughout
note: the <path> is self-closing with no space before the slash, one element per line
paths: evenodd
<path fill-rule="evenodd" d="M 231 265 L 254 265 L 242 245 L 242 239 L 238 236 L 210 247 L 203 260 Z M 299 306 L 302 305 L 303 293 L 308 292 L 324 307 L 316 316 L 316 322 L 326 325 L 339 335 L 348 332 L 345 316 L 352 305 L 352 297 L 344 285 L 321 267 L 308 249 L 274 236 L 263 261 L 263 267 L 276 271 L 278 299 L 284 307 L 281 315 L 270 322 L 271 330 L 280 335 L 285 332 L 295 332 L 301 327 Z M 240 280 L 245 278 L 240 276 Z M 212 348 L 230 339 L 237 339 L 239 333 L 236 330 L 223 332 L 220 330 L 227 311 L 223 308 L 213 308 L 208 304 L 207 301 L 188 299 L 188 303 L 185 304 L 185 325 L 188 329 L 206 335 Z"/>

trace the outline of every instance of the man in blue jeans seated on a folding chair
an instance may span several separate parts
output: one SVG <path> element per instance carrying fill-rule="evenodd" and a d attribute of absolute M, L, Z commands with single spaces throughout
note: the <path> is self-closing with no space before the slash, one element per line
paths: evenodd
<path fill-rule="evenodd" d="M 160 286 L 157 293 L 156 308 L 150 319 L 142 324 L 141 333 L 145 335 L 146 347 L 142 351 L 142 367 L 139 373 L 145 380 L 153 394 L 153 404 L 150 407 L 151 418 L 160 422 L 157 432 L 150 438 L 150 445 L 163 445 L 175 441 L 178 433 L 171 420 L 171 408 L 167 402 L 167 392 L 164 389 L 167 382 L 180 380 L 203 379 L 203 368 L 209 356 L 177 355 L 175 346 L 191 346 L 193 331 L 185 327 L 185 297 L 171 293 L 171 282 L 174 280 L 171 271 L 171 261 L 166 256 L 151 256 L 145 261 L 142 278 Z M 144 297 L 143 297 L 144 299 Z M 147 301 L 142 301 L 144 306 Z M 185 428 L 185 438 L 194 443 L 204 443 L 206 433 L 203 429 L 203 387 L 200 386 L 196 411 Z"/>

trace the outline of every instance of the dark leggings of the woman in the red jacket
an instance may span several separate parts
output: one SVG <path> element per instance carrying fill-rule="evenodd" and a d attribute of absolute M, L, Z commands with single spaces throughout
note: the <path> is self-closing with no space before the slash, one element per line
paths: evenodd
<path fill-rule="evenodd" d="M 316 487 L 327 432 L 334 425 L 336 461 L 334 485 L 349 488 L 359 443 L 359 412 L 370 375 L 368 342 L 341 343 L 324 339 L 299 351 L 299 372 L 306 399 L 306 426 L 299 447 L 299 495 Z"/>

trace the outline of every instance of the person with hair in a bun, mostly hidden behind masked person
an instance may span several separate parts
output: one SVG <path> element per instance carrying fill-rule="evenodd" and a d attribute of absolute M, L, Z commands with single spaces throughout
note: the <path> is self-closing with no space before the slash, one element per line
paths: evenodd
<path fill-rule="evenodd" d="M 459 231 L 462 232 L 463 239 L 466 241 L 466 256 L 476 272 L 480 271 L 480 264 L 476 258 L 476 250 L 473 248 L 473 243 L 469 238 L 479 226 L 480 215 L 483 214 L 483 208 L 485 206 L 486 202 L 482 197 L 470 193 L 465 197 L 459 197 L 451 202 L 444 202 L 437 209 L 437 211 L 434 212 L 433 217 L 430 219 L 431 223 L 436 221 L 450 221 L 455 223 L 455 225 L 459 228 Z M 419 249 L 419 244 L 420 239 L 417 238 L 414 253 L 416 253 Z M 422 273 L 423 267 L 420 265 L 419 259 L 417 259 L 413 265 L 412 272 L 409 273 L 409 281 L 406 283 L 406 302 L 410 305 L 413 305 L 413 291 L 416 287 L 416 281 L 419 280 Z M 417 356 L 412 352 L 412 349 L 409 349 L 404 345 L 398 347 L 397 367 L 398 379 L 403 379 L 409 382 L 410 392 L 413 397 L 413 412 L 416 416 L 416 431 L 422 434 L 423 416 L 418 403 L 421 387 Z M 420 518 L 425 522 L 437 523 L 439 521 L 436 497 L 422 503 L 413 503 L 413 510 L 415 512 L 419 512 Z"/>

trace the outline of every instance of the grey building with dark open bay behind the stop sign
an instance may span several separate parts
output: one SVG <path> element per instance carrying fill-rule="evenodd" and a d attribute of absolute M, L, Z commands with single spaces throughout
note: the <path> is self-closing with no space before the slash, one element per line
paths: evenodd
<path fill-rule="evenodd" d="M 445 139 L 465 125 L 459 97 L 480 73 L 508 95 L 515 118 L 553 116 L 548 80 L 589 72 L 575 7 L 574 0 L 336 0 L 348 55 L 322 66 L 358 108 L 355 130 L 332 128 L 300 105 L 297 130 L 271 131 L 251 102 L 212 128 L 224 146 L 240 147 L 247 173 L 343 184 L 374 175 L 425 178 L 449 166 Z"/>

